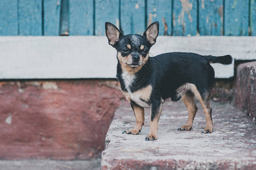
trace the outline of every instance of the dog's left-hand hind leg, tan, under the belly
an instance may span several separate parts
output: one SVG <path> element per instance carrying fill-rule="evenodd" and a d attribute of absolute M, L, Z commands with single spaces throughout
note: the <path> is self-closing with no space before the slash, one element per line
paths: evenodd
<path fill-rule="evenodd" d="M 198 107 L 196 107 L 194 94 L 191 91 L 187 91 L 184 95 L 182 95 L 182 100 L 187 107 L 188 110 L 188 120 L 185 125 L 182 125 L 178 130 L 191 130 L 193 121 L 196 115 L 196 111 L 198 111 Z"/>

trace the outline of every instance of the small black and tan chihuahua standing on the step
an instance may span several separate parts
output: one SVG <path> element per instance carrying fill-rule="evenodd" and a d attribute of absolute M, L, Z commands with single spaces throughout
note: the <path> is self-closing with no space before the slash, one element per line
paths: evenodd
<path fill-rule="evenodd" d="M 194 96 L 203 106 L 206 128 L 202 133 L 212 133 L 212 107 L 210 95 L 215 73 L 210 63 L 232 63 L 231 56 L 201 56 L 195 53 L 165 53 L 149 57 L 156 43 L 159 23 L 154 22 L 144 32 L 123 35 L 115 25 L 106 22 L 108 43 L 117 50 L 117 79 L 126 99 L 131 103 L 137 124 L 123 133 L 139 134 L 144 125 L 144 108 L 150 108 L 150 131 L 146 141 L 156 140 L 158 121 L 163 101 L 182 98 L 188 109 L 187 123 L 178 130 L 190 130 L 198 108 Z"/>

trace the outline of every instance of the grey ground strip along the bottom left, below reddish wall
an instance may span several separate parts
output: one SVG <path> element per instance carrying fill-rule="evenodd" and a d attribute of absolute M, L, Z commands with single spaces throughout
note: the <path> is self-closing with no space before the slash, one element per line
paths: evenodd
<path fill-rule="evenodd" d="M 100 169 L 100 159 L 91 160 L 0 160 L 1 170 L 82 170 Z"/>

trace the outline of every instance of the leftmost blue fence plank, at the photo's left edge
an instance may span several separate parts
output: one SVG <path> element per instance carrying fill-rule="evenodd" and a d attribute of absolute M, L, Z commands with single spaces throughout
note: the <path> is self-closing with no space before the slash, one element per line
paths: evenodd
<path fill-rule="evenodd" d="M 0 1 L 0 36 L 18 35 L 17 0 Z"/>

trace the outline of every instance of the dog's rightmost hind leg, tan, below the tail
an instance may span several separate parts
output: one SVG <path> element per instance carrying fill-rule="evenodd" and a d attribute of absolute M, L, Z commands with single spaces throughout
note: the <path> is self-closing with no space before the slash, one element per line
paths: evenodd
<path fill-rule="evenodd" d="M 211 89 L 208 89 L 208 90 L 205 89 L 202 92 L 199 92 L 196 86 L 192 84 L 191 90 L 195 94 L 195 96 L 198 98 L 198 100 L 200 101 L 204 109 L 206 128 L 202 131 L 202 133 L 212 133 L 213 131 L 212 107 L 210 104 Z"/>

